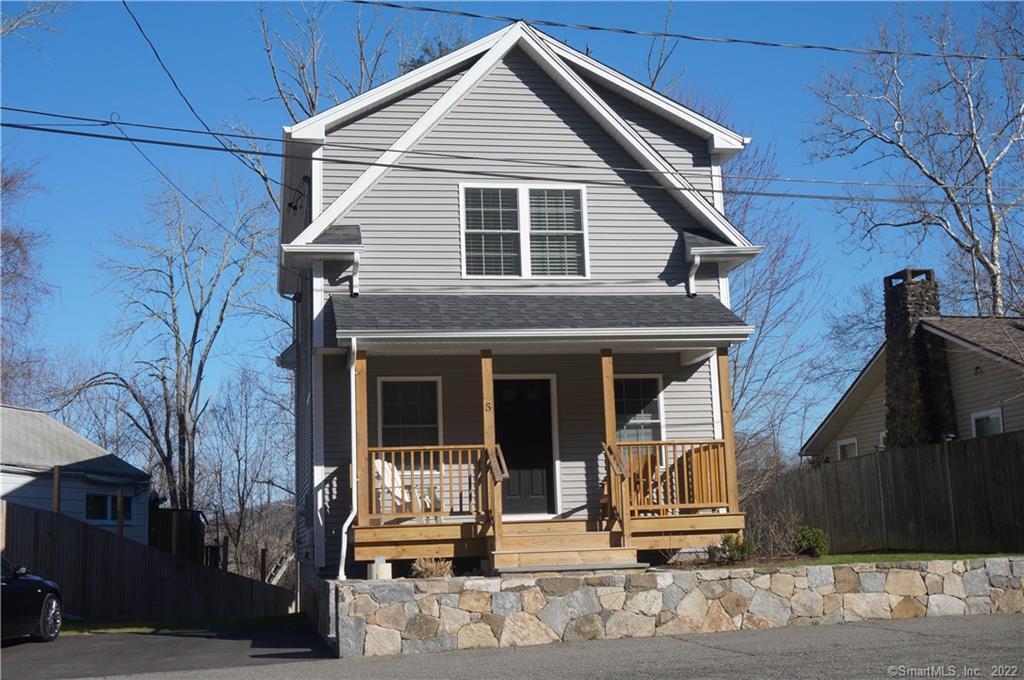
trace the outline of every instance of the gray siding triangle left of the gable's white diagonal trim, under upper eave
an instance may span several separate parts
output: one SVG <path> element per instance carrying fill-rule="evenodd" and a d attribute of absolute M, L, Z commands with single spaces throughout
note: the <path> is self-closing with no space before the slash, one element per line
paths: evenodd
<path fill-rule="evenodd" d="M 356 177 L 375 162 L 381 151 L 352 148 L 344 145 L 387 148 L 412 127 L 437 99 L 439 99 L 465 73 L 458 71 L 451 76 L 398 99 L 388 107 L 373 111 L 348 123 L 344 127 L 328 132 L 324 146 L 324 190 L 323 206 L 327 208 L 351 184 Z M 335 145 L 332 145 L 335 144 Z M 411 156 L 410 162 L 418 162 L 419 157 Z M 345 161 L 338 163 L 332 161 Z"/>

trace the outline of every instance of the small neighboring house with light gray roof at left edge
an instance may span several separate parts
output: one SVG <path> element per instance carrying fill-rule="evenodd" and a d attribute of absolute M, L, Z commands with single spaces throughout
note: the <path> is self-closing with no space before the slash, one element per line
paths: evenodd
<path fill-rule="evenodd" d="M 0 488 L 3 500 L 59 512 L 147 543 L 150 475 L 106 453 L 41 411 L 0 407 Z M 54 481 L 54 468 L 59 468 Z M 54 502 L 54 491 L 57 501 Z"/>

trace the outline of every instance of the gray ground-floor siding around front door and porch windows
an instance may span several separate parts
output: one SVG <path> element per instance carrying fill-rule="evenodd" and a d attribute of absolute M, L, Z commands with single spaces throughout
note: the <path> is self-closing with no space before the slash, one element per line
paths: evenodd
<path fill-rule="evenodd" d="M 561 510 L 564 515 L 596 514 L 600 480 L 603 410 L 601 369 L 597 354 L 496 355 L 497 376 L 553 374 L 557 393 L 558 459 Z M 675 352 L 622 354 L 614 357 L 616 375 L 660 375 L 665 438 L 710 439 L 715 436 L 712 363 L 680 366 Z M 329 479 L 347 483 L 349 463 L 348 375 L 343 356 L 325 357 L 325 444 Z M 476 355 L 370 356 L 368 359 L 368 429 L 370 445 L 378 442 L 378 379 L 381 377 L 441 378 L 441 417 L 444 441 L 478 443 L 483 438 L 480 412 L 480 362 Z M 337 473 L 334 468 L 337 467 Z M 332 484 L 329 482 L 329 490 Z M 328 502 L 328 563 L 337 563 L 340 523 L 350 502 L 339 488 L 337 503 Z"/>

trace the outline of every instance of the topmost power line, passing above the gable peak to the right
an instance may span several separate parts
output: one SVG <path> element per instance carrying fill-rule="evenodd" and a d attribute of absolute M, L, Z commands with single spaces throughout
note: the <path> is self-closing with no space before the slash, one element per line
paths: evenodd
<path fill-rule="evenodd" d="M 387 2 L 385 0 L 342 0 L 350 4 L 372 5 L 375 7 L 387 7 L 389 9 L 400 9 L 402 11 L 427 12 L 433 14 L 447 14 L 450 16 L 461 16 L 463 18 L 476 18 L 487 22 L 502 22 L 514 24 L 524 22 L 536 26 L 545 26 L 554 29 L 570 29 L 572 31 L 600 31 L 604 33 L 617 33 L 627 36 L 641 36 L 644 38 L 672 38 L 675 40 L 686 40 L 691 42 L 717 43 L 724 45 L 748 45 L 752 47 L 776 47 L 782 49 L 811 49 L 826 52 L 839 52 L 844 54 L 877 55 L 877 56 L 922 56 L 929 58 L 961 58 L 961 59 L 983 59 L 991 61 L 1014 61 L 1024 58 L 1021 54 L 971 54 L 954 52 L 943 54 L 941 52 L 929 52 L 925 50 L 900 50 L 885 49 L 881 47 L 847 47 L 841 45 L 825 45 L 821 43 L 783 43 L 769 40 L 754 40 L 750 38 L 722 38 L 713 36 L 697 36 L 687 33 L 668 33 L 662 31 L 640 31 L 612 26 L 593 26 L 589 24 L 566 24 L 546 18 L 523 18 L 520 16 L 508 16 L 503 14 L 481 14 L 464 9 L 446 9 L 442 7 L 429 7 L 425 5 L 407 5 L 397 2 Z"/>

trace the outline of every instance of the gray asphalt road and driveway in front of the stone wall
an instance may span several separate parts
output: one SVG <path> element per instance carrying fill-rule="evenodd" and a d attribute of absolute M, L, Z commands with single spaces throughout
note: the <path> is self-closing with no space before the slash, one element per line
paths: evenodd
<path fill-rule="evenodd" d="M 1015 677 L 1024 678 L 1024 615 L 1018 614 L 358 660 L 309 660 L 309 655 L 318 653 L 317 649 L 296 644 L 299 639 L 295 637 L 287 641 L 281 632 L 270 631 L 269 639 L 262 637 L 266 633 L 262 631 L 249 638 L 238 634 L 237 639 L 184 635 L 146 636 L 144 640 L 141 636 L 69 638 L 52 645 L 53 652 L 60 652 L 53 654 L 36 653 L 36 649 L 50 645 L 30 648 L 19 645 L 4 649 L 3 675 L 5 680 L 81 677 L 98 668 L 110 674 L 160 671 L 133 676 L 137 680 L 788 679 L 928 677 L 925 672 L 913 671 L 932 667 L 930 677 L 966 677 L 967 668 L 977 670 L 973 677 L 989 678 L 993 666 L 1016 665 Z M 294 630 L 292 635 L 296 635 Z M 103 639 L 108 637 L 129 639 Z M 148 647 L 153 638 L 156 643 Z M 18 656 L 23 650 L 31 650 L 35 667 L 26 666 Z M 125 657 L 113 656 L 112 652 Z M 298 661 L 285 661 L 289 658 Z"/>

